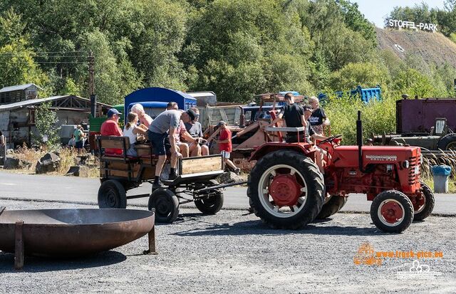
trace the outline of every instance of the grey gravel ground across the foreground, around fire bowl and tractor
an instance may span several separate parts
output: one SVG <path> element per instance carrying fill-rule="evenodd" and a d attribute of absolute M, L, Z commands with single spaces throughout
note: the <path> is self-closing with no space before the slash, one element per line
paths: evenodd
<path fill-rule="evenodd" d="M 306 229 L 284 231 L 268 229 L 242 211 L 181 213 L 175 224 L 157 225 L 157 256 L 141 255 L 147 248 L 143 237 L 83 259 L 27 257 L 23 271 L 14 271 L 14 256 L 0 251 L 0 293 L 456 293 L 456 217 L 431 216 L 402 234 L 384 234 L 368 214 L 336 214 Z M 353 257 L 366 241 L 375 251 L 442 251 L 443 258 L 420 260 L 441 275 L 398 279 L 396 272 L 408 272 L 410 258 L 357 266 Z"/>

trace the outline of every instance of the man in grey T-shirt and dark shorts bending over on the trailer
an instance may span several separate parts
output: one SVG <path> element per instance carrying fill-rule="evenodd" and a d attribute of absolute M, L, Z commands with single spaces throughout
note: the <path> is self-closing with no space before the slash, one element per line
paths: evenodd
<path fill-rule="evenodd" d="M 173 180 L 177 177 L 177 159 L 182 157 L 176 142 L 176 132 L 180 126 L 180 120 L 183 122 L 190 121 L 187 112 L 175 109 L 165 110 L 155 117 L 155 120 L 149 126 L 149 130 L 147 130 L 147 135 L 152 143 L 154 153 L 158 155 L 152 191 L 163 187 L 162 182 L 160 182 L 160 174 L 162 173 L 168 151 L 171 153 L 171 170 L 168 179 Z"/>

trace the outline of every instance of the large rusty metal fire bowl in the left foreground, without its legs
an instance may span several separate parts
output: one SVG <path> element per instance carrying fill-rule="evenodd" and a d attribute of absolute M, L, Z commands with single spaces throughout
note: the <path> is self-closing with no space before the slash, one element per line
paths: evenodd
<path fill-rule="evenodd" d="M 145 236 L 155 214 L 128 209 L 6 210 L 0 214 L 1 251 L 14 253 L 16 221 L 24 221 L 27 255 L 83 256 Z"/>

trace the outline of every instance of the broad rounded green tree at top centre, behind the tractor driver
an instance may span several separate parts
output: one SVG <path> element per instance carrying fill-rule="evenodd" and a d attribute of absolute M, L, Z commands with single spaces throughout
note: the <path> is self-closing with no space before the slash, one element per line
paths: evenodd
<path fill-rule="evenodd" d="M 192 16 L 180 60 L 215 90 L 245 102 L 265 91 L 308 91 L 312 43 L 294 7 L 276 0 L 216 0 Z M 195 72 L 195 70 L 192 70 Z"/>

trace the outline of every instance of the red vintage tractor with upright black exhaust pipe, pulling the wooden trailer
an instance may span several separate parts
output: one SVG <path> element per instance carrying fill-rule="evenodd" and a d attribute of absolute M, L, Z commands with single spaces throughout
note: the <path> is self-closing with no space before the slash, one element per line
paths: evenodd
<path fill-rule="evenodd" d="M 400 233 L 413 220 L 427 218 L 435 200 L 420 182 L 420 148 L 362 146 L 361 112 L 356 129 L 358 146 L 338 145 L 341 136 L 317 143 L 326 151 L 324 174 L 315 164 L 313 144 L 266 142 L 258 147 L 249 159 L 257 160 L 247 189 L 252 211 L 273 228 L 298 229 L 335 214 L 349 193 L 363 193 L 372 201 L 371 218 L 381 231 Z M 304 127 L 266 131 L 304 132 Z"/>

